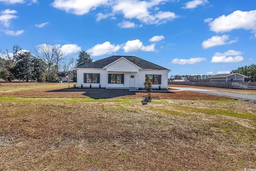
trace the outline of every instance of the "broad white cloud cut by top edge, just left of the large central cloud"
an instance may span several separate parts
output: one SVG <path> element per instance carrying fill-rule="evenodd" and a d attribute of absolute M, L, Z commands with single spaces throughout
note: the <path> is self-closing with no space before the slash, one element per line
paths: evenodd
<path fill-rule="evenodd" d="M 100 5 L 107 4 L 108 0 L 54 0 L 52 6 L 76 15 L 84 15 Z"/>

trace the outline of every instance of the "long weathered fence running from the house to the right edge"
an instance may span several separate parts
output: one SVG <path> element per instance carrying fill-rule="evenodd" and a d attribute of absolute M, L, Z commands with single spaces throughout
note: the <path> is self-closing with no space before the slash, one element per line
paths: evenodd
<path fill-rule="evenodd" d="M 169 84 L 256 90 L 256 82 L 248 83 L 248 82 L 172 82 L 172 81 L 169 81 Z"/>

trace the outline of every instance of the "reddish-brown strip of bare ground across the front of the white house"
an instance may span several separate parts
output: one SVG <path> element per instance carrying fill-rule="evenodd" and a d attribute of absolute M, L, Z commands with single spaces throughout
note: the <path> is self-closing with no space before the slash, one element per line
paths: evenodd
<path fill-rule="evenodd" d="M 47 88 L 17 92 L 0 93 L 2 97 L 45 97 L 45 98 L 75 98 L 90 97 L 94 99 L 106 98 L 143 98 L 145 92 L 134 92 L 124 89 L 74 89 L 74 88 Z M 153 92 L 156 99 L 228 99 L 225 97 L 206 95 L 193 91 Z"/>

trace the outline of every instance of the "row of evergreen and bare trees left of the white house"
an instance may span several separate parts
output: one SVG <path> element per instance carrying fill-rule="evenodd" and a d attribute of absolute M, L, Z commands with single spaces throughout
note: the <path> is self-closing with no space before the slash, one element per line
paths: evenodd
<path fill-rule="evenodd" d="M 0 79 L 5 81 L 58 82 L 59 73 L 65 73 L 76 80 L 75 67 L 91 63 L 92 59 L 84 50 L 78 59 L 67 59 L 57 45 L 42 44 L 34 53 L 13 46 L 12 51 L 0 50 Z"/>

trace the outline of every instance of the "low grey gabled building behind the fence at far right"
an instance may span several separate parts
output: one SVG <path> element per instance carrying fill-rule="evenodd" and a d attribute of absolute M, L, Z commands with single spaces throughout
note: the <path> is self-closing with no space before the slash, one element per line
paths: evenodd
<path fill-rule="evenodd" d="M 211 82 L 244 82 L 245 78 L 248 78 L 245 75 L 238 73 L 230 74 L 217 74 L 209 77 Z"/>

